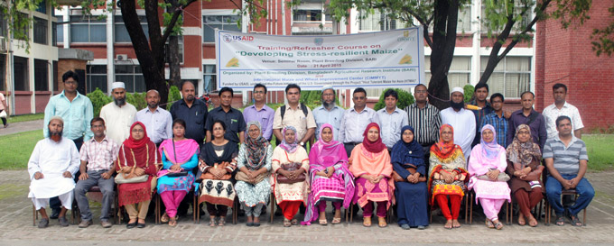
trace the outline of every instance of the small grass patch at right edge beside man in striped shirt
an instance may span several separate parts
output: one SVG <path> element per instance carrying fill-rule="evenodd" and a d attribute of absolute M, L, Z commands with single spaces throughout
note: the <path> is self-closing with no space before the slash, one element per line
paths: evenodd
<path fill-rule="evenodd" d="M 614 170 L 614 142 L 612 134 L 582 135 L 589 154 L 589 169 L 594 171 Z"/>

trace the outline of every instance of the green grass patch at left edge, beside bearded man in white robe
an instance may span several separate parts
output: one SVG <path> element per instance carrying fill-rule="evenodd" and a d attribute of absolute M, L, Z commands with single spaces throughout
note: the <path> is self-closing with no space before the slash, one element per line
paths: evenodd
<path fill-rule="evenodd" d="M 20 132 L 0 138 L 0 170 L 27 169 L 37 141 L 42 140 L 42 130 Z"/>

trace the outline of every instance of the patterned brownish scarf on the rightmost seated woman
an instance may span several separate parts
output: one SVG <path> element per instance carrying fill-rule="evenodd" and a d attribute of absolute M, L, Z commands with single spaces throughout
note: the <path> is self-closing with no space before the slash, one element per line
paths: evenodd
<path fill-rule="evenodd" d="M 516 128 L 516 135 L 514 135 L 514 141 L 507 146 L 507 159 L 512 163 L 520 163 L 522 168 L 529 165 L 533 158 L 539 162 L 542 161 L 542 151 L 539 150 L 539 145 L 533 142 L 533 137 L 529 137 L 528 141 L 522 142 L 518 140 L 518 132 L 520 130 L 527 130 L 531 134 L 531 127 L 526 124 L 518 125 Z"/>

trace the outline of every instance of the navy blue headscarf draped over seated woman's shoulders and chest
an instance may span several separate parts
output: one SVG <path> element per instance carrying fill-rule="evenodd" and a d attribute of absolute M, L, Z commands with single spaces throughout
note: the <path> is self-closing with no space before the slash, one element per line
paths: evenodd
<path fill-rule="evenodd" d="M 404 167 L 405 163 L 411 163 L 416 168 L 420 165 L 424 165 L 424 151 L 422 149 L 422 145 L 420 145 L 418 141 L 415 141 L 415 134 L 412 141 L 403 141 L 403 133 L 405 131 L 411 131 L 414 133 L 414 128 L 409 125 L 405 125 L 401 129 L 401 139 L 395 143 L 395 146 L 392 147 L 392 156 L 390 158 L 391 162 L 396 162 Z"/>

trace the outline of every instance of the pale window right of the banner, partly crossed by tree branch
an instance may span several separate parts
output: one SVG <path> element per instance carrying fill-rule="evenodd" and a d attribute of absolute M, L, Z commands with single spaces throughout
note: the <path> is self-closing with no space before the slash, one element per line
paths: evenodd
<path fill-rule="evenodd" d="M 481 57 L 481 71 L 488 64 L 488 57 Z M 481 74 L 481 73 L 480 73 Z M 503 94 L 506 98 L 519 98 L 531 89 L 531 58 L 505 57 L 488 77 L 489 94 Z"/>

